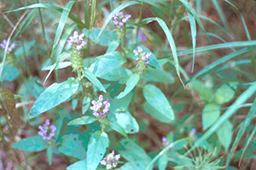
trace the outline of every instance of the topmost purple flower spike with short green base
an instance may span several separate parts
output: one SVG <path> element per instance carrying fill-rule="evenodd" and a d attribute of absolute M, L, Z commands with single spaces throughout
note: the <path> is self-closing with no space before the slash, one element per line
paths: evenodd
<path fill-rule="evenodd" d="M 125 37 L 126 26 L 125 23 L 127 20 L 131 18 L 131 14 L 125 14 L 123 12 L 118 12 L 117 14 L 113 15 L 113 24 L 116 28 L 116 35 L 121 39 Z"/>

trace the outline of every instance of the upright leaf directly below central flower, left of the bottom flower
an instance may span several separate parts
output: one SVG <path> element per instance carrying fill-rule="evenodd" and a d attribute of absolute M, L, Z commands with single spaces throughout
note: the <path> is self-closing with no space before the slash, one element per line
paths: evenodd
<path fill-rule="evenodd" d="M 87 170 L 96 170 L 100 161 L 108 148 L 108 134 L 101 131 L 96 131 L 90 136 L 87 151 Z"/>

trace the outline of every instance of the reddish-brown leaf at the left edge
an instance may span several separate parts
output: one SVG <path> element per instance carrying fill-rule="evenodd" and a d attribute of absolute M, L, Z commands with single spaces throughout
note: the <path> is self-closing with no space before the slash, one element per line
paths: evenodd
<path fill-rule="evenodd" d="M 8 88 L 0 88 L 1 116 L 9 117 L 9 123 L 12 127 L 20 127 L 20 115 L 15 107 L 15 95 Z"/>

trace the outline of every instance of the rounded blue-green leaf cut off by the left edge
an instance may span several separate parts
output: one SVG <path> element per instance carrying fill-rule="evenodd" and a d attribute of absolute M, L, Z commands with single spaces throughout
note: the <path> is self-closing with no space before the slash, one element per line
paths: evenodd
<path fill-rule="evenodd" d="M 1 82 L 3 81 L 12 82 L 18 77 L 20 77 L 20 72 L 12 63 L 6 63 L 4 66 L 3 66 L 3 63 L 0 63 L 0 70 L 2 69 L 3 69 L 3 74 L 1 77 Z"/>

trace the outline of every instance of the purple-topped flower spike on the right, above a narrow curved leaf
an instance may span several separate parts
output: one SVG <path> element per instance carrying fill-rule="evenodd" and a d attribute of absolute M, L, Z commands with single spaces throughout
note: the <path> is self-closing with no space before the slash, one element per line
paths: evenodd
<path fill-rule="evenodd" d="M 149 56 L 151 53 L 143 52 L 143 48 L 141 46 L 138 47 L 138 50 L 133 50 L 133 53 L 137 56 L 137 71 L 139 74 L 143 74 L 149 65 Z"/>

